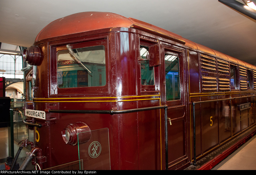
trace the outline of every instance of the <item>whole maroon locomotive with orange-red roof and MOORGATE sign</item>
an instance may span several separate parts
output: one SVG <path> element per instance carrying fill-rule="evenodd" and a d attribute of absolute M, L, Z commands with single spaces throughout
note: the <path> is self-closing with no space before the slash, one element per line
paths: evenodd
<path fill-rule="evenodd" d="M 209 169 L 255 132 L 255 66 L 133 18 L 60 18 L 23 59 L 41 169 Z"/>

